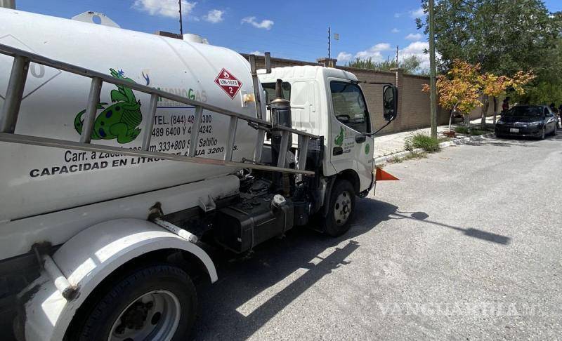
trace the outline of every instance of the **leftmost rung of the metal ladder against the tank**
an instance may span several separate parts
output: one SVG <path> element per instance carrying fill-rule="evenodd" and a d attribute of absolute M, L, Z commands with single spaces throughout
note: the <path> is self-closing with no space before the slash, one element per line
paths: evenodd
<path fill-rule="evenodd" d="M 6 99 L 4 100 L 0 117 L 0 132 L 2 133 L 13 133 L 15 131 L 15 123 L 18 122 L 23 90 L 27 79 L 27 70 L 29 69 L 29 59 L 19 55 L 14 57 L 10 80 L 6 89 Z"/>

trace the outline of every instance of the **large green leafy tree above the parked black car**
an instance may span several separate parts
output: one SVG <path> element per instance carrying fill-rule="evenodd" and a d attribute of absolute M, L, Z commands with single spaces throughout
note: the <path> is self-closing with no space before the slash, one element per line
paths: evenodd
<path fill-rule="evenodd" d="M 427 0 L 422 0 L 427 8 Z M 556 83 L 552 75 L 561 37 L 562 15 L 549 13 L 540 0 L 441 0 L 435 6 L 436 50 L 440 70 L 450 69 L 453 60 L 479 63 L 482 72 L 514 76 L 520 70 L 533 71 L 541 82 Z M 427 19 L 417 19 L 428 30 Z M 559 74 L 560 69 L 556 71 Z M 521 98 L 529 99 L 532 91 Z M 526 96 L 526 97 L 525 97 Z M 536 96 L 536 95 L 535 95 Z M 489 98 L 483 96 L 484 114 Z"/>

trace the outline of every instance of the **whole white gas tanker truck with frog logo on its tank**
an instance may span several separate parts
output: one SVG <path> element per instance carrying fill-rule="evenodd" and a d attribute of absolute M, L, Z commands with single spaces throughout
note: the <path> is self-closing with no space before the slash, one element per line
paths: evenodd
<path fill-rule="evenodd" d="M 349 229 L 376 181 L 360 82 L 249 59 L 0 8 L 0 320 L 15 337 L 185 340 L 192 278 L 218 279 L 207 250 Z M 396 87 L 381 97 L 390 122 Z"/>

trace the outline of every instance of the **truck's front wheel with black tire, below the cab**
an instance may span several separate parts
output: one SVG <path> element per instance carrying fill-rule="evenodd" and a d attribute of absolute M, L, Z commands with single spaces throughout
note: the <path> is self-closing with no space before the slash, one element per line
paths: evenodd
<path fill-rule="evenodd" d="M 348 180 L 336 180 L 329 198 L 328 214 L 322 220 L 323 231 L 329 236 L 341 236 L 351 227 L 355 210 L 355 190 Z"/>

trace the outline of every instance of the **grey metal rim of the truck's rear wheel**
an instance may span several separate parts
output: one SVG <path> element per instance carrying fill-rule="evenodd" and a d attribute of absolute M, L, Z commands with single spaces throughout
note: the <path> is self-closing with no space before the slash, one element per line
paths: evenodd
<path fill-rule="evenodd" d="M 111 327 L 108 341 L 171 340 L 180 321 L 178 297 L 154 290 L 133 300 Z"/>

